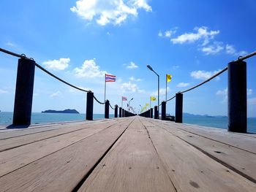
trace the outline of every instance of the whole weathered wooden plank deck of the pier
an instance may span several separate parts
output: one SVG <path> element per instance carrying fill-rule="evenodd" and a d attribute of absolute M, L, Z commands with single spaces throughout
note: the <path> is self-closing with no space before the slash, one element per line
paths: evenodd
<path fill-rule="evenodd" d="M 256 191 L 256 134 L 132 117 L 0 129 L 0 191 Z"/>

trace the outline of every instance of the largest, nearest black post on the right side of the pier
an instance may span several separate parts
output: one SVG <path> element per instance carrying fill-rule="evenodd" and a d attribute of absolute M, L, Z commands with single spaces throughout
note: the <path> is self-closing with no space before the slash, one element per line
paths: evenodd
<path fill-rule="evenodd" d="M 247 131 L 247 83 L 246 62 L 233 61 L 227 66 L 227 130 L 239 133 Z"/>

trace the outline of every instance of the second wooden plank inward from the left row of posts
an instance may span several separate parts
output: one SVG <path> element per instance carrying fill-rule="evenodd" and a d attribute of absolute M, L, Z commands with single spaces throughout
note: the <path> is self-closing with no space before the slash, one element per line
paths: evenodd
<path fill-rule="evenodd" d="M 10 150 L 13 149 L 15 147 L 20 147 L 23 145 L 29 145 L 33 142 L 38 142 L 38 141 L 42 141 L 43 139 L 49 139 L 52 137 L 58 137 L 62 134 L 69 134 L 72 133 L 74 131 L 80 131 L 84 128 L 89 128 L 92 126 L 101 126 L 102 128 L 104 128 L 106 125 L 110 126 L 113 125 L 114 123 L 117 123 L 116 121 L 108 121 L 108 122 L 100 122 L 100 123 L 75 123 L 75 124 L 67 124 L 65 126 L 63 126 L 63 128 L 61 128 L 61 126 L 58 126 L 58 128 L 56 129 L 50 129 L 50 130 L 46 130 L 46 131 L 39 131 L 39 132 L 33 132 L 33 134 L 26 134 L 26 135 L 22 135 L 19 137 L 11 137 L 8 139 L 2 139 L 0 140 L 0 152 L 4 151 L 4 150 Z"/>

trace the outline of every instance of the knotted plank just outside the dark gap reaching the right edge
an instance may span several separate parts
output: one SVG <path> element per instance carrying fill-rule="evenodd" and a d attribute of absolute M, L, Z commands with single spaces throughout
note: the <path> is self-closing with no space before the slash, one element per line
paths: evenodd
<path fill-rule="evenodd" d="M 154 123 L 154 126 L 165 128 L 171 134 L 197 147 L 198 150 L 214 158 L 219 163 L 256 183 L 256 155 L 254 153 L 249 153 L 206 137 L 200 137 L 180 128 L 174 128 L 173 125 L 167 126 L 165 123 L 151 122 Z"/>

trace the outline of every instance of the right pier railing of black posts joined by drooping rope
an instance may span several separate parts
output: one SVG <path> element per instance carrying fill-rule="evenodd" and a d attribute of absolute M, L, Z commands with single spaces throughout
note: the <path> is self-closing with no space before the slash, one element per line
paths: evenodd
<path fill-rule="evenodd" d="M 203 82 L 188 88 L 184 91 L 179 91 L 166 101 L 162 101 L 159 106 L 154 107 L 154 118 L 159 118 L 159 107 L 162 105 L 161 119 L 166 120 L 166 104 L 168 101 L 176 98 L 175 122 L 182 123 L 183 114 L 183 93 L 192 91 L 195 88 L 204 85 L 206 82 L 213 80 L 223 72 L 227 71 L 227 130 L 233 132 L 247 132 L 247 85 L 246 85 L 246 58 L 251 58 L 256 55 L 256 52 L 239 57 L 236 61 L 231 61 L 227 67 L 214 74 Z M 140 114 L 146 118 L 153 118 L 153 109 L 147 110 Z"/>

